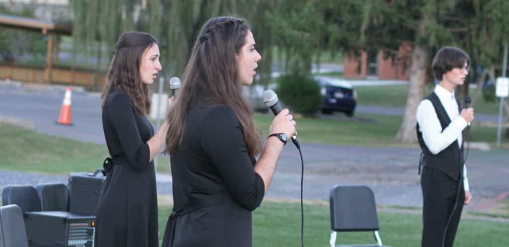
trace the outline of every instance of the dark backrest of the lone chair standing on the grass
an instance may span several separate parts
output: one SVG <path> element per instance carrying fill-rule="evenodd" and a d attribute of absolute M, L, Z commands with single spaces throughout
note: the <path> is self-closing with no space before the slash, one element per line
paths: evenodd
<path fill-rule="evenodd" d="M 378 231 L 375 196 L 369 187 L 336 185 L 329 200 L 331 230 Z"/>

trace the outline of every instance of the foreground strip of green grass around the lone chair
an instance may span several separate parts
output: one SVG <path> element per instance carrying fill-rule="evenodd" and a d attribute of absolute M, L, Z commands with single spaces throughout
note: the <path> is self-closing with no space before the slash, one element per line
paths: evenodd
<path fill-rule="evenodd" d="M 159 232 L 162 233 L 171 206 L 159 206 Z M 380 237 L 385 245 L 420 246 L 420 214 L 379 211 Z M 509 246 L 509 223 L 462 219 L 455 246 Z M 304 205 L 304 245 L 328 246 L 329 207 Z M 337 244 L 375 243 L 371 232 L 337 233 Z M 300 204 L 264 202 L 253 212 L 253 246 L 300 246 Z"/>

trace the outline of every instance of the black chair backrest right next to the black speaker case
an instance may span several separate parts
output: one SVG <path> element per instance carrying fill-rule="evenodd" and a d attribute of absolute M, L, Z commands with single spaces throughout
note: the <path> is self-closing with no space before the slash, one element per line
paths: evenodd
<path fill-rule="evenodd" d="M 69 191 L 64 183 L 43 183 L 36 186 L 42 211 L 67 211 Z"/>

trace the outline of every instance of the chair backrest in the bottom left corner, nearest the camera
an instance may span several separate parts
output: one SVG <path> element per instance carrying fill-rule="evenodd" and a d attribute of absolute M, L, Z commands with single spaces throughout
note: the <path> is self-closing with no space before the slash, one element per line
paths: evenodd
<path fill-rule="evenodd" d="M 23 213 L 17 205 L 0 207 L 0 246 L 28 247 Z"/>

